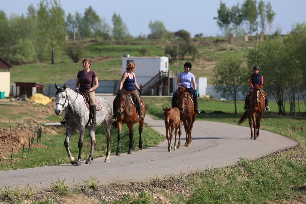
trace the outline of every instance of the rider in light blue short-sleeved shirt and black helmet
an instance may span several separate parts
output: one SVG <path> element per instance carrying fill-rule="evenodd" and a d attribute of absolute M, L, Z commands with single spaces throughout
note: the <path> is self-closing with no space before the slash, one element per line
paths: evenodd
<path fill-rule="evenodd" d="M 191 67 L 192 67 L 192 65 L 191 65 L 190 62 L 186 62 L 184 64 L 184 72 L 181 72 L 177 76 L 177 85 L 180 86 L 180 87 L 183 85 L 184 87 L 188 88 L 188 92 L 192 93 L 192 95 L 193 95 L 194 109 L 195 109 L 196 113 L 200 113 L 199 105 L 198 105 L 198 95 L 197 95 L 197 91 L 196 91 L 196 78 L 190 72 Z M 179 93 L 179 91 L 177 89 L 172 96 L 172 101 L 171 101 L 172 108 L 176 107 L 177 94 L 178 93 Z"/>

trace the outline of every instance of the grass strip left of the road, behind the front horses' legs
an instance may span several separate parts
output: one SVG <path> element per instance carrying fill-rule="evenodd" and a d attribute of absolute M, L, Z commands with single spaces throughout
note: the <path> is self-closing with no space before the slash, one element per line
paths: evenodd
<path fill-rule="evenodd" d="M 134 130 L 137 130 L 139 127 L 138 124 L 135 124 Z M 144 125 L 144 130 L 142 132 L 142 142 L 144 148 L 155 146 L 160 143 L 165 138 L 161 136 L 155 130 L 149 128 L 147 125 Z M 64 132 L 64 131 L 63 131 Z M 115 154 L 117 151 L 117 128 L 111 129 L 111 143 L 110 150 L 111 154 Z M 122 139 L 121 139 L 121 153 L 127 152 L 129 149 L 129 129 L 126 125 L 123 125 L 122 128 Z M 95 131 L 96 137 L 96 148 L 94 153 L 94 158 L 103 157 L 106 154 L 106 136 L 102 126 L 98 126 Z M 69 149 L 74 158 L 78 157 L 78 139 L 79 135 L 73 135 L 69 141 Z M 24 158 L 22 158 L 22 148 L 13 154 L 12 163 L 4 163 L 9 161 L 10 158 L 2 159 L 2 166 L 0 171 L 13 170 L 13 169 L 25 169 L 39 166 L 50 166 L 58 165 L 63 163 L 69 163 L 69 158 L 67 156 L 65 147 L 64 147 L 64 135 L 47 135 L 43 134 L 41 138 L 41 143 L 46 147 L 43 148 L 32 148 L 32 151 L 28 154 L 28 147 L 24 149 Z M 134 131 L 134 151 L 139 150 L 138 148 L 139 133 Z M 36 140 L 35 140 L 36 143 Z M 90 152 L 90 138 L 88 131 L 85 131 L 83 148 L 82 148 L 82 160 L 86 160 Z M 14 159 L 19 161 L 15 161 Z"/>

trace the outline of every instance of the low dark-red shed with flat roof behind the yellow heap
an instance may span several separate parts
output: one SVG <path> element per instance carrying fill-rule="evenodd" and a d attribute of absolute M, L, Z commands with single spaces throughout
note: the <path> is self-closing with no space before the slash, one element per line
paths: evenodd
<path fill-rule="evenodd" d="M 15 82 L 16 83 L 16 93 L 17 87 L 19 87 L 19 95 L 26 95 L 30 97 L 36 93 L 43 94 L 44 93 L 44 85 L 39 83 L 31 83 L 31 82 Z"/>

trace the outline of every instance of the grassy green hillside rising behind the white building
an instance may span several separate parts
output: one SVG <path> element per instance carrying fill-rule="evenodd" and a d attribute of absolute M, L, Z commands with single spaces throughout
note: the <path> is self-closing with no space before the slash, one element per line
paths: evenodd
<path fill-rule="evenodd" d="M 129 39 L 120 42 L 95 43 L 84 40 L 77 43 L 80 49 L 84 49 L 84 57 L 92 59 L 91 69 L 97 72 L 99 80 L 120 80 L 121 56 L 123 54 L 143 56 L 140 53 L 140 49 L 146 48 L 145 56 L 165 56 L 164 49 L 166 45 L 178 42 L 178 40 L 180 39 Z M 198 46 L 198 54 L 195 59 L 187 55 L 184 60 L 179 60 L 179 71 L 182 70 L 182 65 L 185 61 L 190 61 L 192 63 L 192 73 L 196 77 L 207 77 L 208 84 L 211 83 L 212 69 L 221 58 L 230 56 L 245 57 L 248 49 L 255 46 L 254 36 L 250 36 L 247 43 L 243 41 L 243 37 L 234 38 L 233 44 L 229 44 L 227 38 L 222 37 L 203 37 L 192 40 Z M 14 65 L 10 70 L 11 82 L 64 83 L 69 79 L 75 78 L 77 72 L 83 69 L 81 60 L 78 63 L 74 63 L 64 52 L 57 51 L 55 64 L 53 65 L 49 59 L 46 59 L 43 63 Z M 176 59 L 170 59 L 169 69 L 177 70 Z"/>

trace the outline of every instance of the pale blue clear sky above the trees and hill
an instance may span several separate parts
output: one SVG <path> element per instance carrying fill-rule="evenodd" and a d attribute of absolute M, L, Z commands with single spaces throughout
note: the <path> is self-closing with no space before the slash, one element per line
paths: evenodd
<path fill-rule="evenodd" d="M 241 5 L 244 0 L 223 0 L 227 7 Z M 257 1 L 258 2 L 258 1 Z M 268 1 L 265 1 L 267 3 Z M 272 9 L 276 13 L 272 24 L 272 32 L 276 29 L 281 34 L 290 32 L 295 23 L 306 22 L 305 0 L 270 0 Z M 7 16 L 11 13 L 21 15 L 27 13 L 27 8 L 33 4 L 37 8 L 39 0 L 0 0 L 0 10 Z M 62 0 L 60 1 L 65 15 L 74 14 L 76 11 L 84 14 L 85 8 L 92 6 L 96 13 L 103 17 L 110 26 L 114 13 L 120 14 L 123 22 L 127 25 L 129 33 L 137 37 L 150 33 L 148 27 L 150 20 L 162 21 L 168 31 L 185 29 L 193 37 L 203 33 L 203 36 L 222 35 L 214 17 L 220 1 L 216 0 Z M 260 29 L 260 28 L 259 28 Z"/>

